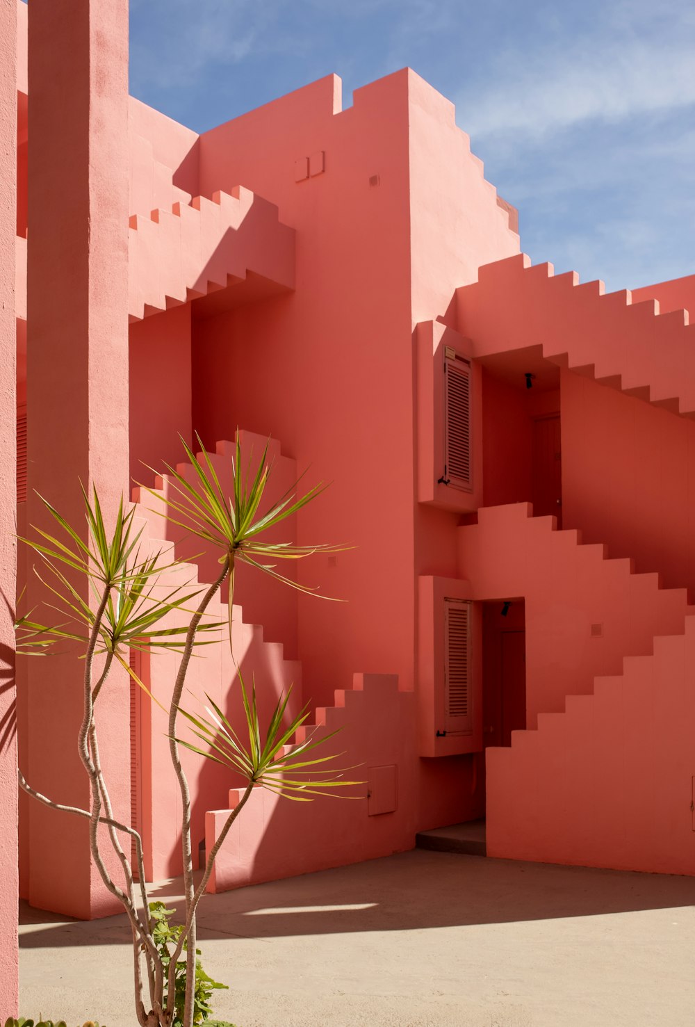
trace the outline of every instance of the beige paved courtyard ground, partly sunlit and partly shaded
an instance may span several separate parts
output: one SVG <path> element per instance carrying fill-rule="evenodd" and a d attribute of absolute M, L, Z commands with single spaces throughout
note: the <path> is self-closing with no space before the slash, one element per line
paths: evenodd
<path fill-rule="evenodd" d="M 203 965 L 239 1027 L 692 1027 L 694 901 L 693 878 L 416 850 L 206 897 Z M 25 1015 L 133 1027 L 124 920 L 23 914 Z"/>

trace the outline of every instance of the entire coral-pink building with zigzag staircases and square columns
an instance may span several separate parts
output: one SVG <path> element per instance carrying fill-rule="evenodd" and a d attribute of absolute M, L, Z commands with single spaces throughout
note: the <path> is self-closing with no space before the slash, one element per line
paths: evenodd
<path fill-rule="evenodd" d="M 107 504 L 132 480 L 166 490 L 142 461 L 176 463 L 179 432 L 229 476 L 238 427 L 245 452 L 272 439 L 278 493 L 306 467 L 334 483 L 296 539 L 356 546 L 299 568 L 346 603 L 241 574 L 234 645 L 265 708 L 294 681 L 316 724 L 345 729 L 363 796 L 297 808 L 255 792 L 213 889 L 482 817 L 492 857 L 693 874 L 695 275 L 605 295 L 530 266 L 453 105 L 408 69 L 347 109 L 331 76 L 198 136 L 128 97 L 125 2 L 27 14 L 0 5 L 4 595 L 15 338 L 21 529 L 41 518 L 33 490 L 76 520 L 78 477 Z M 193 551 L 131 495 L 149 537 Z M 195 562 L 209 580 L 209 557 Z M 16 577 L 31 601 L 22 551 Z M 176 657 L 145 662 L 165 696 Z M 16 680 L 23 770 L 85 803 L 56 730 L 79 723 L 71 662 L 20 661 Z M 234 715 L 226 653 L 199 659 L 194 684 Z M 125 677 L 105 701 L 119 811 L 148 875 L 177 874 L 159 711 Z M 0 702 L 4 723 L 9 687 Z M 208 847 L 238 798 L 211 767 L 189 759 Z M 21 802 L 18 841 L 33 905 L 113 910 L 83 823 Z M 11 872 L 0 886 L 6 940 Z M 0 1012 L 15 1000 L 5 955 Z"/>

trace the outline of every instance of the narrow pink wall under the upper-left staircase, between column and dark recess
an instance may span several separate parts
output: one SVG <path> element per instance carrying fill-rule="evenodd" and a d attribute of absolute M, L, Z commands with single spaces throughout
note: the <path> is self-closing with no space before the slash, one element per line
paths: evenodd
<path fill-rule="evenodd" d="M 130 478 L 150 484 L 143 464 L 176 466 L 192 442 L 190 304 L 134 321 L 128 348 Z"/>

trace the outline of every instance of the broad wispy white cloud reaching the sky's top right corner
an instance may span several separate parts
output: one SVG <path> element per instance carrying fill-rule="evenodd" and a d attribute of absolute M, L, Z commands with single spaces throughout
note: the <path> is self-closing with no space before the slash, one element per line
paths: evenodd
<path fill-rule="evenodd" d="M 543 137 L 695 105 L 695 10 L 624 0 L 604 11 L 576 33 L 566 20 L 533 50 L 528 38 L 505 47 L 491 63 L 494 85 L 461 91 L 466 130 Z"/>

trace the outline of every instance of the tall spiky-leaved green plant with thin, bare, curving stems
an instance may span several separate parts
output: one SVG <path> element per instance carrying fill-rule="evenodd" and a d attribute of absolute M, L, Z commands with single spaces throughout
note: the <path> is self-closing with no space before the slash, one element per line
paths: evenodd
<path fill-rule="evenodd" d="M 313 593 L 314 589 L 281 574 L 276 569 L 277 561 L 301 560 L 317 551 L 335 553 L 345 548 L 264 541 L 268 531 L 315 499 L 323 486 L 316 486 L 304 495 L 294 488 L 267 512 L 261 514 L 271 469 L 267 463 L 267 447 L 258 464 L 254 466 L 249 461 L 244 471 L 237 442 L 232 495 L 226 496 L 213 461 L 199 439 L 198 443 L 200 458 L 183 442 L 195 472 L 193 483 L 166 465 L 172 483 L 169 494 L 162 496 L 159 492 L 147 491 L 163 504 L 157 512 L 218 550 L 220 572 L 209 586 L 191 591 L 187 584 L 173 583 L 170 577 L 167 584 L 167 576 L 172 572 L 178 570 L 181 576 L 181 562 L 176 559 L 167 562 L 161 550 L 151 551 L 152 544 L 142 537 L 144 529 L 137 530 L 136 507 L 124 511 L 122 500 L 113 531 L 108 532 L 95 491 L 90 498 L 82 489 L 86 532 L 80 530 L 81 526 L 68 524 L 48 501 L 42 499 L 56 526 L 51 530 L 56 534 L 34 528 L 35 538 L 22 539 L 38 558 L 34 572 L 45 588 L 43 607 L 49 615 L 44 618 L 34 609 L 18 617 L 17 652 L 45 656 L 60 645 L 64 649 L 70 647 L 82 661 L 83 716 L 77 747 L 89 779 L 89 807 L 66 806 L 39 794 L 25 779 L 22 770 L 18 772 L 20 785 L 34 799 L 53 809 L 88 819 L 92 861 L 104 885 L 121 903 L 129 921 L 134 1005 L 141 1027 L 192 1027 L 203 1021 L 209 1025 L 214 1023 L 208 1019 L 209 998 L 220 985 L 204 974 L 200 961 L 196 960 L 196 909 L 215 858 L 254 787 L 306 802 L 318 795 L 343 794 L 349 798 L 351 796 L 341 790 L 359 784 L 346 781 L 344 769 L 334 767 L 335 755 L 316 752 L 336 732 L 321 736 L 311 734 L 302 743 L 293 744 L 297 730 L 307 720 L 308 708 L 292 716 L 287 709 L 289 691 L 279 697 L 269 722 L 262 725 L 255 682 L 244 682 L 238 671 L 245 723 L 240 733 L 209 696 L 206 696 L 207 703 L 202 712 L 185 710 L 181 706 L 194 651 L 225 636 L 231 646 L 237 564 L 249 564 L 292 587 Z M 224 581 L 229 581 L 228 618 L 213 621 L 207 608 Z M 182 614 L 187 623 L 181 624 Z M 161 706 L 129 667 L 130 650 L 179 654 L 178 672 L 165 713 L 172 772 L 182 800 L 185 906 L 184 922 L 180 927 L 169 925 L 171 911 L 163 904 L 148 901 L 141 836 L 133 827 L 114 817 L 100 758 L 99 730 L 104 725 L 100 724 L 99 700 L 109 688 L 114 669 L 120 665 L 145 689 L 152 701 Z M 188 738 L 179 736 L 179 714 L 189 725 Z M 237 781 L 240 774 L 244 783 L 241 800 L 231 810 L 207 854 L 197 886 L 193 880 L 191 797 L 180 759 L 181 747 L 227 768 Z M 105 846 L 110 857 L 105 858 Z M 114 857 L 120 863 L 122 883 L 117 883 L 107 867 L 108 860 Z"/>

